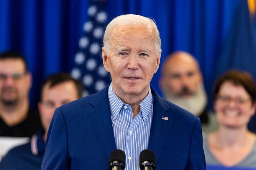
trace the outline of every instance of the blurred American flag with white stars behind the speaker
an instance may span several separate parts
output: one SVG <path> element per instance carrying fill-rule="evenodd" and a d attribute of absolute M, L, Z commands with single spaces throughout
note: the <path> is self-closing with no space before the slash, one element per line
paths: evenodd
<path fill-rule="evenodd" d="M 91 0 L 87 13 L 89 19 L 84 23 L 84 33 L 79 40 L 75 66 L 71 71 L 72 77 L 81 80 L 84 85 L 83 96 L 99 92 L 111 82 L 101 57 L 102 37 L 108 20 L 105 2 Z"/>

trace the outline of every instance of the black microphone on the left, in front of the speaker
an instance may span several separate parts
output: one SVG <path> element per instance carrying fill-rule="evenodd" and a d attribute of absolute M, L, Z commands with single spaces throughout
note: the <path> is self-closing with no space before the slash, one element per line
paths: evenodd
<path fill-rule="evenodd" d="M 110 153 L 109 170 L 124 170 L 125 153 L 120 149 L 116 149 Z"/>

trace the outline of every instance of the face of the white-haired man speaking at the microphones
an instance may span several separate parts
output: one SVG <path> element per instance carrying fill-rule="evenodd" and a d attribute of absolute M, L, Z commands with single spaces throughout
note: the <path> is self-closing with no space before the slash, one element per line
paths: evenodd
<path fill-rule="evenodd" d="M 160 55 L 147 28 L 114 28 L 109 53 L 102 48 L 103 64 L 111 74 L 114 92 L 121 98 L 146 96 L 149 83 L 159 67 Z"/>

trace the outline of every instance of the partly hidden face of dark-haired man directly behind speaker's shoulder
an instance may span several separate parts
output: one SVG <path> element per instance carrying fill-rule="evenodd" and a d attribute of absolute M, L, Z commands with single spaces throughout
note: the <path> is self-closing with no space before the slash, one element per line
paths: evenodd
<path fill-rule="evenodd" d="M 76 86 L 72 81 L 65 81 L 53 87 L 47 83 L 42 91 L 42 101 L 38 103 L 38 109 L 44 130 L 47 132 L 50 126 L 54 110 L 63 104 L 78 99 Z"/>

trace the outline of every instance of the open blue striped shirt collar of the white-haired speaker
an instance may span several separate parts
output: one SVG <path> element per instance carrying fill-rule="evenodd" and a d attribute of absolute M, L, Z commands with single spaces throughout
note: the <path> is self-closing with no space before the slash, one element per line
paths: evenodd
<path fill-rule="evenodd" d="M 109 99 L 111 117 L 115 121 L 118 114 L 120 113 L 121 108 L 127 104 L 125 104 L 113 91 L 112 83 L 109 85 L 109 88 L 108 88 L 108 99 Z M 139 103 L 140 114 L 144 122 L 147 120 L 147 116 L 152 107 L 152 104 L 153 104 L 153 97 L 152 97 L 151 89 L 149 87 L 148 95 Z"/>

